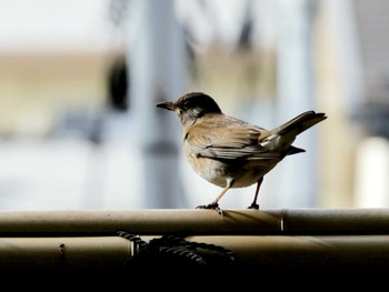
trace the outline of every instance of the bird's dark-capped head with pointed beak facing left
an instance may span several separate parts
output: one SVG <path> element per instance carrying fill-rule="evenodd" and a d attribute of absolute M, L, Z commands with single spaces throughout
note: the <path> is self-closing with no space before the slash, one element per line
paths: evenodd
<path fill-rule="evenodd" d="M 176 102 L 166 101 L 156 105 L 176 112 L 182 125 L 191 124 L 197 119 L 209 113 L 221 113 L 218 103 L 202 92 L 190 92 L 179 98 Z"/>

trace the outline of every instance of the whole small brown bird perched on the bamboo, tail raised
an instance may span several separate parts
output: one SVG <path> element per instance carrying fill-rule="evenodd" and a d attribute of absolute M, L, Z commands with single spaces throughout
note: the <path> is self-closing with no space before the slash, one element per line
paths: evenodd
<path fill-rule="evenodd" d="M 231 188 L 257 183 L 249 209 L 257 203 L 263 175 L 285 157 L 305 152 L 292 145 L 296 137 L 327 119 L 325 113 L 307 111 L 270 131 L 222 113 L 216 101 L 191 92 L 176 102 L 159 102 L 158 108 L 174 111 L 183 127 L 183 151 L 193 170 L 207 181 L 223 188 L 221 193 L 200 209 L 216 209 Z"/>

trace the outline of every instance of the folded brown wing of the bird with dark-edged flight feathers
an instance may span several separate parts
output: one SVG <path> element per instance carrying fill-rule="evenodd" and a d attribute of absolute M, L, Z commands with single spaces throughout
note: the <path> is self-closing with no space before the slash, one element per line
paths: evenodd
<path fill-rule="evenodd" d="M 263 148 L 258 137 L 267 130 L 225 115 L 223 119 L 207 119 L 188 129 L 184 139 L 191 153 L 213 159 L 273 159 L 280 153 Z"/>

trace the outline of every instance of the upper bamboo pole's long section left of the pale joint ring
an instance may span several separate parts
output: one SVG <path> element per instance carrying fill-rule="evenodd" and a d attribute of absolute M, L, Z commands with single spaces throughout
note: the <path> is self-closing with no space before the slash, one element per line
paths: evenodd
<path fill-rule="evenodd" d="M 147 209 L 128 211 L 0 212 L 0 234 L 247 234 L 280 231 L 279 215 L 256 210 Z"/>

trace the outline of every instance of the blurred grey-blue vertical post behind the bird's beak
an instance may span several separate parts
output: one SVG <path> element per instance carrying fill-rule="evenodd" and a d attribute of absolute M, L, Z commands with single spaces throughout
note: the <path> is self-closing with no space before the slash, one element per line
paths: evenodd
<path fill-rule="evenodd" d="M 180 128 L 177 117 L 156 108 L 162 100 L 176 100 L 186 88 L 183 32 L 177 22 L 172 0 L 137 0 L 137 19 L 129 21 L 130 98 L 140 149 L 138 171 L 143 208 L 182 208 L 184 198 L 179 173 Z M 133 14 L 133 13 L 132 13 Z M 137 21 L 138 20 L 138 21 Z M 130 34 L 130 33 L 129 33 Z M 138 165 L 133 165 L 138 168 Z"/>

